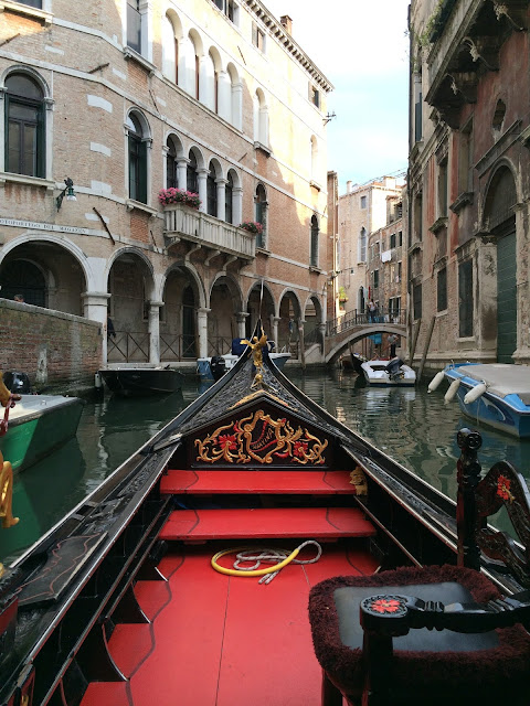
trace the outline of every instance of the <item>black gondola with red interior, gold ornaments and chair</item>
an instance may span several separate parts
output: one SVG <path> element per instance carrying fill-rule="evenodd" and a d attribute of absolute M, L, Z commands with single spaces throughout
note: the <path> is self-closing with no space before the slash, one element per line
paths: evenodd
<path fill-rule="evenodd" d="M 502 558 L 485 517 L 505 504 L 528 544 L 524 482 L 499 462 L 478 483 L 480 437 L 462 430 L 453 502 L 303 395 L 262 341 L 6 569 L 0 704 L 437 704 L 447 685 L 439 703 L 457 704 L 467 672 L 487 677 L 480 703 L 518 703 L 528 554 Z M 499 624 L 512 668 L 497 673 Z M 441 642 L 394 654 L 409 631 Z M 451 682 L 448 632 L 465 666 Z"/>

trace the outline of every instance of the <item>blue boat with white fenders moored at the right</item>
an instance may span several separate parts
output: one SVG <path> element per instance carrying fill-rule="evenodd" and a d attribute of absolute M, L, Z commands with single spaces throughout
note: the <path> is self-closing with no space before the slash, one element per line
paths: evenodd
<path fill-rule="evenodd" d="M 457 381 L 453 389 L 466 416 L 530 438 L 530 365 L 456 363 L 447 365 L 444 375 L 452 384 Z"/>

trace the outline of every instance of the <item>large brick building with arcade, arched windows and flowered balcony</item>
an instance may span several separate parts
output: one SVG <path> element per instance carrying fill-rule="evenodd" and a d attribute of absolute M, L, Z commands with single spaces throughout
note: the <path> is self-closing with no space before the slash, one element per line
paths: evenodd
<path fill-rule="evenodd" d="M 292 33 L 258 0 L 0 0 L 1 296 L 108 312 L 109 362 L 322 330 L 332 87 Z"/>

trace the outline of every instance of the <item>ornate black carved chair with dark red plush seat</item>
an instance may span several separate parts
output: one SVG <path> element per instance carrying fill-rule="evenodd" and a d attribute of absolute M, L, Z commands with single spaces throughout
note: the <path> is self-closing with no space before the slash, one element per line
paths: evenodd
<path fill-rule="evenodd" d="M 477 470 L 475 464 L 473 469 L 473 460 L 476 460 L 476 448 L 479 443 L 471 449 L 471 457 L 468 456 L 469 449 L 466 447 L 469 440 L 466 435 L 476 432 L 463 432 L 464 436 L 459 436 L 459 445 L 463 448 L 463 457 L 458 462 L 459 475 L 465 471 L 464 474 L 467 477 L 470 468 L 478 474 L 479 467 Z M 471 438 L 474 445 L 477 445 L 477 436 Z M 527 527 L 530 527 L 528 491 L 526 485 L 516 488 L 520 479 L 517 479 L 516 483 L 516 479 L 510 475 L 510 469 L 511 467 L 504 462 L 496 464 L 476 491 L 476 483 L 471 483 L 473 493 L 478 499 L 476 504 L 471 503 L 477 523 L 469 524 L 467 517 L 467 528 L 471 525 L 478 528 L 484 524 L 481 518 L 489 514 L 494 506 L 498 510 L 507 500 L 506 483 L 509 489 L 508 495 L 511 496 L 510 504 L 517 501 L 517 514 L 524 516 Z M 459 481 L 462 480 L 459 478 Z M 463 520 L 462 506 L 459 518 Z M 464 532 L 462 522 L 458 523 L 459 533 L 460 530 Z M 470 547 L 468 541 L 469 537 L 466 537 L 465 543 L 460 542 L 460 548 L 465 544 L 466 552 Z M 473 547 L 470 549 L 471 556 L 476 556 L 478 560 L 478 550 L 475 553 Z M 464 554 L 462 552 L 459 555 L 460 566 L 405 567 L 367 577 L 338 576 L 317 584 L 311 589 L 309 619 L 315 653 L 324 671 L 324 706 L 340 706 L 342 695 L 350 704 L 378 706 L 530 704 L 530 635 L 521 624 L 509 624 L 510 610 L 515 613 L 512 606 L 490 602 L 501 598 L 500 591 L 479 570 L 462 566 Z M 528 561 L 526 565 L 528 569 Z M 363 616 L 363 629 L 360 603 L 370 596 L 378 597 L 380 603 L 381 600 L 389 603 L 390 599 L 389 612 L 394 610 L 394 603 L 398 605 L 398 600 L 393 600 L 394 596 L 415 597 L 433 602 L 426 602 L 423 610 L 420 601 L 421 609 L 416 613 L 412 611 L 415 617 L 413 616 L 412 620 L 409 616 L 403 619 L 409 621 L 403 631 L 390 627 L 386 629 L 385 621 L 381 620 L 377 612 L 374 614 L 375 621 L 379 619 L 378 625 L 370 623 L 367 628 Z M 381 599 L 382 596 L 386 598 Z M 530 591 L 519 593 L 518 598 L 518 620 L 523 616 L 522 622 L 528 627 Z M 446 614 L 439 602 L 456 607 L 449 609 Z M 475 607 L 469 610 L 468 606 L 475 603 L 488 606 L 484 616 L 477 618 Z M 380 609 L 381 606 L 377 608 Z M 406 612 L 405 610 L 404 613 Z M 477 620 L 483 621 L 478 630 L 485 630 L 485 627 L 494 622 L 496 625 L 509 627 L 495 630 L 488 627 L 484 632 L 469 632 L 473 621 L 473 625 L 479 624 Z M 452 621 L 453 628 L 458 623 L 466 632 L 415 629 L 418 622 L 439 628 L 445 624 L 444 621 Z M 390 625 L 389 619 L 386 623 Z M 382 632 L 378 634 L 378 630 Z M 394 637 L 391 637 L 392 634 Z"/>

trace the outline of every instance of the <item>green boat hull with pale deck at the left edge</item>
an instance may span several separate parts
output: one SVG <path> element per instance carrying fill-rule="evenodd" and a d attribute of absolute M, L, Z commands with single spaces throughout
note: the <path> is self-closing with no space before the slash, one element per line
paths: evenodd
<path fill-rule="evenodd" d="M 22 406 L 24 406 L 23 396 Z M 6 436 L 0 438 L 0 451 L 13 471 L 36 463 L 75 436 L 83 411 L 78 397 L 53 398 L 34 396 L 28 411 L 9 420 Z"/>

